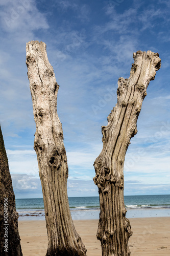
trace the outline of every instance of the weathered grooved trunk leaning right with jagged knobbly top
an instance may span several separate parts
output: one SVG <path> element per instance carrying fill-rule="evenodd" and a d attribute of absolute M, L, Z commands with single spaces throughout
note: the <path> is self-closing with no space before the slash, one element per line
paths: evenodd
<path fill-rule="evenodd" d="M 97 238 L 102 255 L 130 255 L 132 235 L 124 204 L 124 161 L 130 139 L 137 133 L 136 122 L 147 87 L 160 68 L 158 53 L 137 51 L 129 79 L 118 79 L 117 104 L 102 126 L 103 150 L 94 162 L 94 183 L 99 187 L 100 220 Z"/>

